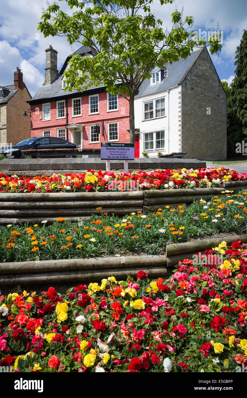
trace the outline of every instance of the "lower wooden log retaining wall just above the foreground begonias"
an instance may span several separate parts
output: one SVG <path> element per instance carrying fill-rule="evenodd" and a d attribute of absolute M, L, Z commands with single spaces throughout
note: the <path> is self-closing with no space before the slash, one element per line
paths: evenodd
<path fill-rule="evenodd" d="M 23 261 L 0 263 L 0 286 L 34 285 L 44 283 L 95 282 L 113 275 L 122 280 L 136 277 L 140 270 L 149 278 L 165 277 L 167 267 L 177 265 L 193 254 L 218 246 L 223 240 L 228 246 L 237 240 L 247 243 L 247 234 L 224 238 L 203 239 L 195 242 L 166 246 L 166 256 L 123 256 L 91 259 L 64 259 L 49 261 Z"/>

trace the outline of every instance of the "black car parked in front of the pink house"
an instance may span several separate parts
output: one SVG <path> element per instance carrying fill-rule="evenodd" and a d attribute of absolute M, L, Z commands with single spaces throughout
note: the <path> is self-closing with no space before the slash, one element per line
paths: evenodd
<path fill-rule="evenodd" d="M 25 156 L 37 157 L 37 156 L 53 156 L 54 154 L 64 154 L 66 156 L 73 156 L 73 149 L 77 148 L 76 144 L 66 141 L 62 138 L 57 137 L 33 137 L 18 142 L 16 145 L 6 149 L 3 154 L 8 158 L 20 159 Z M 21 150 L 27 149 L 28 152 L 21 152 Z M 32 151 L 33 149 L 33 151 Z M 68 149 L 71 149 L 69 151 Z M 64 152 L 63 152 L 64 150 Z"/>

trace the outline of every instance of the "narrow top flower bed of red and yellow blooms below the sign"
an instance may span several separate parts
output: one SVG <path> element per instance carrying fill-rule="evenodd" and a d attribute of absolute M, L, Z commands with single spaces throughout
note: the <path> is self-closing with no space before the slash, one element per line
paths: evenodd
<path fill-rule="evenodd" d="M 245 181 L 246 173 L 221 168 L 201 168 L 197 170 L 158 170 L 114 174 L 101 170 L 86 173 L 52 174 L 52 176 L 5 176 L 0 174 L 0 192 L 91 192 L 91 191 L 131 191 L 136 189 L 171 189 L 195 187 L 220 187 L 224 181 Z M 137 188 L 138 184 L 138 188 Z"/>

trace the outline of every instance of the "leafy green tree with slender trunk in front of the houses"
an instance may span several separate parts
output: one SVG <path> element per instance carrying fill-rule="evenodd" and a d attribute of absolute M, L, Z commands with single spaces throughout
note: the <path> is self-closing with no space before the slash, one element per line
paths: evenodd
<path fill-rule="evenodd" d="M 60 0 L 62 1 L 62 0 Z M 204 39 L 191 31 L 193 17 L 172 13 L 172 29 L 162 29 L 150 7 L 154 0 L 65 0 L 72 15 L 56 3 L 43 10 L 38 29 L 45 37 L 61 35 L 72 45 L 80 43 L 97 53 L 95 57 L 73 55 L 64 73 L 71 87 L 83 90 L 104 84 L 106 91 L 129 101 L 130 142 L 135 140 L 134 95 L 143 80 L 151 78 L 155 67 L 187 58 L 193 47 L 206 46 Z M 161 6 L 173 0 L 159 0 Z M 210 41 L 210 52 L 222 45 L 217 38 Z"/>

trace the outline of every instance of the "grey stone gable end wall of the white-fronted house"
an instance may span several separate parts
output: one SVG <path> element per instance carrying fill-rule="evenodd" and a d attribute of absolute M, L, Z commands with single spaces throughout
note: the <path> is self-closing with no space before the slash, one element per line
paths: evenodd
<path fill-rule="evenodd" d="M 181 86 L 181 151 L 226 160 L 226 94 L 206 48 Z"/>

